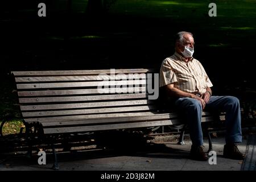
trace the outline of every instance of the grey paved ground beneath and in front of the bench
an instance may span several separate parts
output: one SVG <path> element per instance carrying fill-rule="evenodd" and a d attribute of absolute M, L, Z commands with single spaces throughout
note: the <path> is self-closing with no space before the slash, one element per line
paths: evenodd
<path fill-rule="evenodd" d="M 158 142 L 144 151 L 77 151 L 58 154 L 60 170 L 83 171 L 240 171 L 242 160 L 222 157 L 224 137 L 213 138 L 213 150 L 217 164 L 189 159 L 191 142 L 181 146 L 174 142 Z M 247 139 L 238 146 L 245 153 Z M 205 140 L 205 150 L 208 140 Z M 47 155 L 47 164 L 37 164 L 37 156 L 31 160 L 24 156 L 10 155 L 0 161 L 0 170 L 52 170 L 52 155 Z"/>

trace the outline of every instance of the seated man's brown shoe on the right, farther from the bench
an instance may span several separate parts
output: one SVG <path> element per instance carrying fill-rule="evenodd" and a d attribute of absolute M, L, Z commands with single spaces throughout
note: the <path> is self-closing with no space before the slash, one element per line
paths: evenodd
<path fill-rule="evenodd" d="M 243 160 L 245 155 L 243 155 L 237 148 L 236 144 L 225 144 L 223 155 L 225 158 Z"/>

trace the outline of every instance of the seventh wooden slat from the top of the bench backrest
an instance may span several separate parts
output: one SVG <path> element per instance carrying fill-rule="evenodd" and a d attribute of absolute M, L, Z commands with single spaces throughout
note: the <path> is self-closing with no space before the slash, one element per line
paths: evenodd
<path fill-rule="evenodd" d="M 124 111 L 154 110 L 155 106 L 132 106 L 132 107 L 108 107 L 97 109 L 76 109 L 76 110 L 55 110 L 55 111 L 35 111 L 23 112 L 23 117 L 43 117 L 49 115 L 76 115 L 76 114 L 96 114 L 96 113 L 119 113 Z"/>

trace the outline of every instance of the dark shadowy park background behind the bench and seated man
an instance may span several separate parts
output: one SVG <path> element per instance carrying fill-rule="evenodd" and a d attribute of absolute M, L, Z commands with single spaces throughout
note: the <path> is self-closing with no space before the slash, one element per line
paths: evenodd
<path fill-rule="evenodd" d="M 46 17 L 38 4 L 46 3 Z M 156 68 L 190 31 L 213 94 L 255 99 L 256 1 L 1 1 L 0 110 L 11 107 L 11 71 Z M 251 93 L 253 93 L 251 95 Z"/>

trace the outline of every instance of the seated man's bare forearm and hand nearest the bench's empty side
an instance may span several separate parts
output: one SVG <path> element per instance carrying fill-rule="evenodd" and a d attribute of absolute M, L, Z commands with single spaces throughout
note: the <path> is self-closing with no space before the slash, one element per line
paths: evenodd
<path fill-rule="evenodd" d="M 169 96 L 195 98 L 196 100 L 199 100 L 201 102 L 201 106 L 204 109 L 205 101 L 203 100 L 203 98 L 198 97 L 195 94 L 187 93 L 187 92 L 184 92 L 180 89 L 174 88 L 174 84 L 168 84 L 165 87 L 166 87 L 166 90 L 167 90 L 167 94 Z"/>

